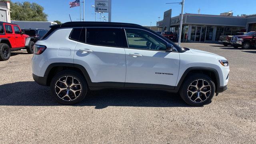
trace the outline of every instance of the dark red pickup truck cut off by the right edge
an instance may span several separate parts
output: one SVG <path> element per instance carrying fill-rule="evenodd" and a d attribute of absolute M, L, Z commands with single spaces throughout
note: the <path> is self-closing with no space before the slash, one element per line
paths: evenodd
<path fill-rule="evenodd" d="M 242 47 L 249 49 L 251 46 L 256 47 L 256 32 L 248 32 L 244 35 L 232 36 L 231 44 L 234 48 Z"/>

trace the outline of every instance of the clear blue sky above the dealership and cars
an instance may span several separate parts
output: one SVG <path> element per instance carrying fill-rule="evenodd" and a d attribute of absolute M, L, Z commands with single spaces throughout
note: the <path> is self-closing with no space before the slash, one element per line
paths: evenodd
<path fill-rule="evenodd" d="M 80 8 L 69 8 L 69 2 L 75 0 L 12 0 L 12 2 L 36 2 L 44 7 L 48 14 L 48 21 L 60 20 L 62 23 L 80 21 Z M 182 0 L 112 0 L 112 22 L 128 22 L 142 26 L 156 26 L 158 17 L 164 16 L 164 11 L 172 9 L 172 16 L 178 16 L 181 12 L 180 4 L 166 4 L 169 2 L 181 2 Z M 85 0 L 85 20 L 95 21 L 95 12 L 92 5 L 95 0 Z M 81 6 L 82 8 L 82 6 Z M 256 14 L 256 0 L 185 0 L 184 13 L 215 14 L 232 10 L 234 16 L 240 14 Z M 102 14 L 107 16 L 108 13 Z M 99 21 L 97 14 L 97 21 Z"/>

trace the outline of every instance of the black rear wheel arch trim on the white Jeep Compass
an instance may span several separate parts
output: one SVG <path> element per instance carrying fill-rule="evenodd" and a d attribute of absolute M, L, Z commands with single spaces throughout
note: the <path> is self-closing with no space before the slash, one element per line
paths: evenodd
<path fill-rule="evenodd" d="M 86 71 L 86 69 L 83 66 L 81 66 L 79 64 L 71 64 L 71 63 L 52 63 L 48 66 L 48 68 L 46 69 L 46 71 L 44 73 L 44 76 L 47 76 L 46 85 L 50 86 L 52 78 L 58 72 L 61 72 L 63 70 L 74 70 L 74 71 L 82 74 L 82 76 L 84 76 L 88 86 L 90 86 L 90 84 L 92 83 L 88 72 Z"/>

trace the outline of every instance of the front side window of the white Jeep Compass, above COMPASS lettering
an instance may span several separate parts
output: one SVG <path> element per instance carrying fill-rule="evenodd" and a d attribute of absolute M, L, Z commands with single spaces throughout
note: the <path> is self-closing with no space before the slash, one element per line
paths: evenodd
<path fill-rule="evenodd" d="M 125 29 L 129 48 L 166 50 L 166 42 L 158 36 L 137 29 Z"/>

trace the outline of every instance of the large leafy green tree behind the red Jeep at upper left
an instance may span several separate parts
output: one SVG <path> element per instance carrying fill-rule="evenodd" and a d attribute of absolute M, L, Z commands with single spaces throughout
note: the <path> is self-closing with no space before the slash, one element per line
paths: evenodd
<path fill-rule="evenodd" d="M 10 1 L 10 0 L 2 0 Z M 11 2 L 10 1 L 11 20 L 24 21 L 47 21 L 48 15 L 44 13 L 44 7 L 33 2 Z"/>

